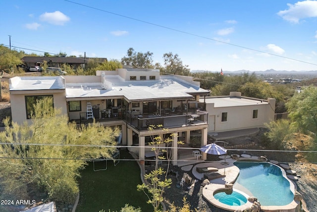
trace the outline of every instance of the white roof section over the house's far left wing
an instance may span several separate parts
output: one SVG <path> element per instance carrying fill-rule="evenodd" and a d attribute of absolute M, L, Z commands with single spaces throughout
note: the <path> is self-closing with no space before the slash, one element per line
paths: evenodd
<path fill-rule="evenodd" d="M 10 91 L 52 89 L 65 89 L 61 76 L 15 76 L 10 78 Z"/>

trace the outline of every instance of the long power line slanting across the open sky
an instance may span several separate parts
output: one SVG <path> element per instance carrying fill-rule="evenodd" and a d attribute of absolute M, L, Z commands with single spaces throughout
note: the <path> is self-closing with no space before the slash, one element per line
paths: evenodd
<path fill-rule="evenodd" d="M 110 12 L 110 11 L 107 11 L 107 10 L 104 10 L 104 9 L 100 9 L 100 8 L 97 8 L 97 7 L 93 7 L 93 6 L 89 6 L 89 5 L 86 5 L 86 4 L 77 3 L 77 2 L 74 2 L 74 1 L 70 1 L 70 0 L 65 0 L 65 1 L 70 2 L 70 3 L 74 3 L 74 4 L 78 4 L 78 5 L 81 5 L 81 6 L 85 6 L 85 7 L 91 8 L 91 9 L 96 9 L 96 10 L 99 10 L 99 11 L 102 11 L 102 12 L 106 12 L 106 13 L 109 13 L 109 14 L 112 14 L 112 15 L 117 15 L 117 16 L 128 18 L 128 19 L 131 19 L 131 20 L 135 20 L 135 21 L 139 21 L 139 22 L 142 22 L 142 23 L 150 24 L 150 25 L 157 26 L 157 27 L 160 27 L 160 28 L 164 28 L 164 29 L 180 32 L 180 33 L 183 33 L 183 34 L 187 34 L 187 35 L 191 35 L 191 36 L 195 36 L 195 37 L 199 37 L 199 38 L 204 38 L 204 39 L 207 39 L 207 40 L 212 40 L 212 41 L 216 41 L 216 42 L 219 42 L 219 43 L 224 43 L 224 44 L 227 44 L 227 45 L 231 45 L 231 46 L 235 46 L 235 47 L 239 47 L 239 48 L 243 48 L 243 49 L 248 49 L 248 50 L 255 51 L 255 52 L 260 52 L 260 53 L 264 53 L 264 54 L 268 54 L 268 55 L 272 55 L 272 56 L 276 56 L 276 57 L 280 57 L 280 58 L 284 58 L 284 59 L 289 59 L 289 60 L 293 60 L 293 61 L 302 62 L 302 63 L 311 64 L 311 65 L 317 66 L 317 64 L 309 63 L 309 62 L 306 62 L 306 61 L 297 60 L 297 59 L 289 58 L 289 57 L 284 57 L 284 56 L 281 56 L 281 55 L 276 55 L 276 54 L 273 54 L 273 53 L 268 53 L 268 52 L 264 52 L 264 51 L 261 51 L 261 50 L 256 50 L 256 49 L 244 47 L 244 46 L 241 46 L 241 45 L 232 44 L 232 43 L 228 43 L 228 42 L 212 39 L 212 38 L 201 36 L 201 35 L 197 35 L 197 34 L 194 34 L 194 33 L 190 33 L 190 32 L 186 32 L 186 31 L 170 28 L 170 27 L 167 27 L 167 26 L 159 25 L 159 24 L 152 23 L 152 22 L 149 22 L 149 21 L 144 21 L 144 20 L 137 19 L 137 18 L 132 18 L 132 17 L 129 17 L 129 16 L 126 16 L 126 15 L 121 15 L 121 14 L 118 14 L 118 13 L 115 13 L 115 12 Z"/>

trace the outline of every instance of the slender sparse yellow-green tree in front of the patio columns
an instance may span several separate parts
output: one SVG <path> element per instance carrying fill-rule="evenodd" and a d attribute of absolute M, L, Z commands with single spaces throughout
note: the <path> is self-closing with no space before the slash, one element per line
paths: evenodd
<path fill-rule="evenodd" d="M 154 212 L 160 212 L 159 209 L 160 203 L 163 202 L 163 194 L 166 188 L 169 188 L 172 184 L 172 180 L 167 178 L 167 173 L 170 165 L 171 160 L 171 152 L 165 150 L 162 146 L 166 146 L 167 148 L 170 147 L 173 138 L 177 137 L 177 134 L 171 134 L 168 135 L 168 129 L 162 129 L 164 131 L 164 136 L 157 136 L 155 135 L 155 129 L 161 128 L 161 125 L 150 125 L 149 131 L 152 132 L 151 136 L 151 142 L 149 142 L 149 145 L 152 145 L 152 151 L 155 152 L 156 157 L 156 163 L 155 163 L 155 169 L 152 170 L 149 174 L 144 175 L 144 178 L 146 180 L 149 180 L 149 184 L 142 184 L 138 185 L 137 189 L 138 191 L 143 191 L 145 195 L 149 198 L 148 203 L 152 204 Z M 182 141 L 178 141 L 177 144 L 183 144 Z M 163 152 L 166 154 L 165 156 L 159 156 L 159 152 Z M 164 171 L 161 167 L 158 166 L 159 160 L 167 160 L 167 170 Z M 150 197 L 148 191 L 152 196 Z"/>

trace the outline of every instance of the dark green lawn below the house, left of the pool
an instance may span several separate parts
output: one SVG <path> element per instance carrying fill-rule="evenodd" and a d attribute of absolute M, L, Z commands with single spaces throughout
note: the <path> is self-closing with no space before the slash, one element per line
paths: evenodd
<path fill-rule="evenodd" d="M 132 159 L 127 150 L 120 151 L 120 159 Z M 95 167 L 104 166 L 104 162 L 95 162 Z M 108 160 L 106 171 L 93 169 L 91 162 L 82 170 L 79 181 L 80 199 L 76 212 L 99 212 L 105 210 L 120 211 L 125 204 L 140 207 L 144 212 L 153 208 L 147 204 L 147 197 L 137 191 L 141 184 L 140 168 L 135 161 L 120 161 L 116 166 Z"/>

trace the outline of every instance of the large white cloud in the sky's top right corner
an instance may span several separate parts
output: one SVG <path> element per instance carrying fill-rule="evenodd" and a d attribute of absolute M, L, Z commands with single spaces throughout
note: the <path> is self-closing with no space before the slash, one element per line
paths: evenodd
<path fill-rule="evenodd" d="M 298 23 L 303 18 L 317 17 L 317 0 L 298 1 L 295 4 L 288 3 L 287 6 L 288 9 L 277 14 L 291 23 Z"/>

